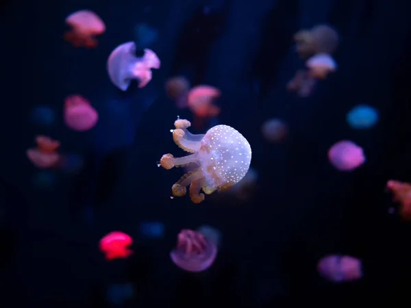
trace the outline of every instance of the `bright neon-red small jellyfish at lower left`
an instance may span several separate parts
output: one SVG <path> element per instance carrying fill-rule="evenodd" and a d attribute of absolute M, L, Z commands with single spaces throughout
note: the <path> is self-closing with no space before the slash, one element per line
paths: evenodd
<path fill-rule="evenodd" d="M 126 258 L 133 253 L 128 248 L 132 244 L 133 239 L 129 235 L 121 231 L 113 231 L 100 240 L 100 251 L 105 254 L 105 259 L 108 261 Z"/>

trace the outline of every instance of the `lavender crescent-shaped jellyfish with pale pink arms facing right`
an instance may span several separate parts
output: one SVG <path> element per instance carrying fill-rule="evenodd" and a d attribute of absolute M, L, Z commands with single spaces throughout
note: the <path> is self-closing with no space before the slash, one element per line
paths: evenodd
<path fill-rule="evenodd" d="M 110 53 L 107 62 L 108 76 L 120 90 L 127 90 L 132 79 L 138 79 L 138 88 L 144 88 L 151 80 L 151 68 L 160 68 L 160 60 L 151 49 L 145 49 L 142 57 L 136 57 L 136 44 L 125 42 Z"/>

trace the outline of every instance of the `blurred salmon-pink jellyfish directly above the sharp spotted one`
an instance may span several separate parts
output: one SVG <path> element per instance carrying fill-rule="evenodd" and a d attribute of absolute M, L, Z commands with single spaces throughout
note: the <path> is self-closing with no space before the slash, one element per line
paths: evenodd
<path fill-rule="evenodd" d="M 195 127 L 201 127 L 203 120 L 220 114 L 220 107 L 213 104 L 220 95 L 221 92 L 212 86 L 195 86 L 188 92 L 188 107 L 195 116 Z"/>

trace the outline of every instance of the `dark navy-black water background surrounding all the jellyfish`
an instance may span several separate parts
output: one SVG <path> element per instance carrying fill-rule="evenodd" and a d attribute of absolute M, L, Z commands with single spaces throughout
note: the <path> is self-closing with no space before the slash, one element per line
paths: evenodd
<path fill-rule="evenodd" d="M 203 5 L 212 13 L 204 15 Z M 107 25 L 97 49 L 62 40 L 64 18 L 84 8 Z M 384 186 L 411 180 L 410 8 L 405 0 L 3 1 L 1 307 L 104 307 L 105 287 L 127 281 L 138 290 L 130 307 L 352 307 L 404 299 L 410 227 L 388 215 Z M 158 29 L 151 49 L 162 67 L 146 88 L 121 92 L 105 62 L 134 39 L 137 23 Z M 338 73 L 297 99 L 285 90 L 303 67 L 292 34 L 319 23 L 340 33 Z M 180 153 L 169 133 L 177 114 L 191 119 L 164 94 L 164 81 L 179 73 L 221 89 L 220 123 L 249 140 L 260 177 L 245 205 L 169 198 L 181 170 L 155 163 Z M 59 115 L 64 97 L 77 93 L 99 112 L 95 129 L 75 133 L 61 118 L 49 129 L 30 125 L 32 107 L 52 105 Z M 349 129 L 345 114 L 358 103 L 377 107 L 377 127 Z M 283 144 L 260 134 L 272 117 L 290 126 Z M 34 189 L 25 150 L 37 134 L 84 155 L 84 170 L 59 172 L 53 189 Z M 327 162 L 327 149 L 342 139 L 364 148 L 366 164 L 355 172 Z M 95 209 L 93 224 L 82 219 L 86 207 Z M 145 220 L 164 222 L 164 240 L 139 238 Z M 180 229 L 201 224 L 221 230 L 223 246 L 208 272 L 188 274 L 169 251 Z M 98 241 L 112 230 L 134 237 L 134 257 L 105 262 Z M 319 279 L 316 262 L 332 253 L 362 259 L 364 279 Z"/>

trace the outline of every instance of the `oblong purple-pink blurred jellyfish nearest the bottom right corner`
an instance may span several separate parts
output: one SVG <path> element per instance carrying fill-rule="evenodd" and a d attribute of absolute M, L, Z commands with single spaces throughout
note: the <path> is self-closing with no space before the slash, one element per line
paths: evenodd
<path fill-rule="evenodd" d="M 362 278 L 360 259 L 347 255 L 328 255 L 317 265 L 321 277 L 332 282 L 356 281 Z"/>

